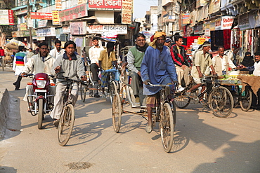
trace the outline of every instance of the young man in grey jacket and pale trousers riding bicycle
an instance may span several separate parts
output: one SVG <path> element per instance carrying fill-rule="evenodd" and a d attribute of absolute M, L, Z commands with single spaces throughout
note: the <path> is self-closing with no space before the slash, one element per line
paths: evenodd
<path fill-rule="evenodd" d="M 65 53 L 56 59 L 53 64 L 52 74 L 58 74 L 63 72 L 63 76 L 78 80 L 78 76 L 82 78 L 82 81 L 86 81 L 86 73 L 84 69 L 84 64 L 82 62 L 82 57 L 76 55 L 76 43 L 74 41 L 67 41 L 64 45 Z M 59 77 L 59 76 L 58 76 Z M 63 93 L 66 90 L 65 79 L 57 79 L 56 83 L 56 95 L 54 97 L 54 108 L 51 112 L 51 118 L 53 118 L 53 125 L 58 127 L 60 114 L 63 110 Z M 74 82 L 72 88 L 72 104 L 77 102 L 77 91 L 79 90 L 79 84 Z"/>

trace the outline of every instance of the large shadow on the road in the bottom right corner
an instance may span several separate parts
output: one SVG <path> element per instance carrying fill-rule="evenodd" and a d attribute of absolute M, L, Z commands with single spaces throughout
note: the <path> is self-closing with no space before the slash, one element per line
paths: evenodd
<path fill-rule="evenodd" d="M 260 172 L 260 141 L 244 143 L 227 142 L 229 147 L 223 149 L 223 157 L 214 162 L 199 165 L 193 173 L 199 172 Z"/>

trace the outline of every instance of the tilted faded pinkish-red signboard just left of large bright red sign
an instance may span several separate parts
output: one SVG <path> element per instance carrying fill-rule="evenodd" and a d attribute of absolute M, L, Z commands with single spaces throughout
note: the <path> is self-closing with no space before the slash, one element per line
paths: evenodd
<path fill-rule="evenodd" d="M 79 6 L 74 6 L 72 8 L 65 9 L 64 11 L 59 11 L 60 22 L 82 18 L 87 15 L 88 11 L 86 9 L 86 4 L 81 4 Z"/>

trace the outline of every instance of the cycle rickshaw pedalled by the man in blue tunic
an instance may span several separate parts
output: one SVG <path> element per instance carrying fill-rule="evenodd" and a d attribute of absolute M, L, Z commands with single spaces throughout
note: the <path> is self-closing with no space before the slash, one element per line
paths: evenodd
<path fill-rule="evenodd" d="M 173 87 L 174 85 L 153 85 L 149 83 L 151 87 L 162 87 L 160 90 L 160 105 L 158 105 L 152 111 L 152 124 L 155 127 L 156 122 L 159 121 L 160 127 L 160 134 L 162 139 L 162 144 L 164 146 L 164 151 L 169 153 L 174 143 L 174 127 L 176 125 L 176 106 L 174 103 L 174 97 L 167 97 L 166 95 L 166 87 Z M 129 87 L 128 85 L 123 85 L 122 89 L 120 90 L 120 95 L 123 97 L 124 93 L 126 92 L 124 89 Z M 174 93 L 174 90 L 171 90 Z M 129 92 L 129 91 L 128 91 Z M 126 96 L 130 97 L 129 94 L 126 93 Z M 112 103 L 112 123 L 115 132 L 119 132 L 121 126 L 121 119 L 123 112 L 131 112 L 131 111 L 124 111 L 124 98 L 119 97 L 119 93 L 115 93 L 115 97 Z M 128 98 L 131 99 L 131 98 Z M 135 106 L 132 108 L 143 109 L 145 106 Z M 135 112 L 131 112 L 135 113 Z M 142 115 L 145 118 L 146 113 L 142 111 L 141 113 L 135 113 L 138 115 Z M 146 119 L 146 118 L 145 118 Z M 147 119 L 146 119 L 147 120 Z"/>

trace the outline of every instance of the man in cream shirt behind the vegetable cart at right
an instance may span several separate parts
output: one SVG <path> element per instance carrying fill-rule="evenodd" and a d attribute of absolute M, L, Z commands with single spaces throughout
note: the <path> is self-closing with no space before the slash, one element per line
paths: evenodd
<path fill-rule="evenodd" d="M 228 67 L 230 69 L 237 69 L 230 58 L 228 58 L 227 55 L 224 55 L 223 46 L 219 46 L 218 53 L 219 54 L 212 59 L 213 67 L 216 71 L 216 74 L 218 74 L 219 76 L 226 74 L 226 71 L 228 71 Z"/>

